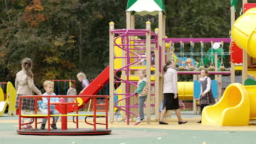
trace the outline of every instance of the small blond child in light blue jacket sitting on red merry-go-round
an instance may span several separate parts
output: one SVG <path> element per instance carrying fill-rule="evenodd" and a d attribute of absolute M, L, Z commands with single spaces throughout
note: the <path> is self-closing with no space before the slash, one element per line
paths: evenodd
<path fill-rule="evenodd" d="M 45 81 L 44 82 L 44 89 L 45 93 L 43 95 L 56 95 L 53 93 L 53 82 Z M 50 104 L 59 103 L 59 98 L 50 98 Z M 48 98 L 43 98 L 43 113 L 44 115 L 48 115 Z M 55 105 L 50 105 L 50 114 L 51 115 L 60 115 L 60 112 L 55 109 Z M 51 124 L 51 128 L 57 129 L 56 122 L 58 121 L 59 117 L 54 117 L 54 123 Z M 42 121 L 42 125 L 40 129 L 45 129 L 45 124 L 47 122 L 47 118 L 44 118 Z"/>

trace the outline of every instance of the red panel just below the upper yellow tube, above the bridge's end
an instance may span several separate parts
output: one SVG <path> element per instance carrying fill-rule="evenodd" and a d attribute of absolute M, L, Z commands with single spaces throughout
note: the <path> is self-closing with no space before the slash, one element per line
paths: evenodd
<path fill-rule="evenodd" d="M 240 49 L 234 41 L 231 43 L 231 61 L 232 63 L 243 62 L 243 50 Z"/>

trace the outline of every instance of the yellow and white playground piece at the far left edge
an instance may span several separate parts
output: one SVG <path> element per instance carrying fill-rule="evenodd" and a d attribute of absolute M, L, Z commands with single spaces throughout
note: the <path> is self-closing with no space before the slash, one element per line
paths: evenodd
<path fill-rule="evenodd" d="M 2 85 L 7 85 L 6 95 L 4 97 L 4 91 L 0 87 L 0 116 L 3 115 L 5 109 L 8 106 L 8 115 L 16 115 L 15 100 L 16 90 L 11 82 L 0 82 Z"/>

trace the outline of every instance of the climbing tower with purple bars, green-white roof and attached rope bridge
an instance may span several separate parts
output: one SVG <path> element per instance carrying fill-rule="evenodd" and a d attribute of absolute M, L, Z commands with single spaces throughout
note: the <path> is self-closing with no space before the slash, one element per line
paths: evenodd
<path fill-rule="evenodd" d="M 122 119 L 126 120 L 127 124 L 129 124 L 129 121 L 132 118 L 138 116 L 136 114 L 138 113 L 138 110 L 135 109 L 135 107 L 138 107 L 137 99 L 133 97 L 133 93 L 135 91 L 135 87 L 138 81 L 138 77 L 136 77 L 136 71 L 139 69 L 146 69 L 147 79 L 151 82 L 149 89 L 151 89 L 152 91 L 149 92 L 148 95 L 150 95 L 150 97 L 148 96 L 146 105 L 144 106 L 146 107 L 147 122 L 150 121 L 151 113 L 155 114 L 156 120 L 159 119 L 158 110 L 162 100 L 162 65 L 165 64 L 166 59 L 173 58 L 179 66 L 177 68 L 178 74 L 193 75 L 193 79 L 195 81 L 200 79 L 200 70 L 202 68 L 205 68 L 207 62 L 204 61 L 206 61 L 208 57 L 208 62 L 210 64 L 209 67 L 206 69 L 211 70 L 209 71 L 210 75 L 215 75 L 214 83 L 216 83 L 217 87 L 213 88 L 212 92 L 215 94 L 217 93 L 217 95 L 214 97 L 216 98 L 216 101 L 218 101 L 222 96 L 222 75 L 230 75 L 231 83 L 235 82 L 235 70 L 237 70 L 238 68 L 237 66 L 235 66 L 235 61 L 237 60 L 237 51 L 234 51 L 233 49 L 235 43 L 232 42 L 231 38 L 166 38 L 166 16 L 164 3 L 162 1 L 147 1 L 147 4 L 152 7 L 146 8 L 143 7 L 144 2 L 146 1 L 128 1 L 126 9 L 126 29 L 114 29 L 114 22 L 109 23 L 109 92 L 111 95 L 109 113 L 110 122 L 113 122 L 114 116 L 114 111 L 112 110 L 112 107 L 117 107 L 118 109 L 123 110 Z M 145 29 L 135 29 L 136 14 L 158 14 L 159 28 L 156 28 L 155 32 L 153 32 L 150 27 L 150 22 L 146 22 Z M 255 15 L 254 11 L 251 10 L 250 14 L 248 15 L 245 15 L 244 17 L 246 18 L 243 18 L 247 20 L 247 25 L 250 25 L 250 22 L 255 23 L 255 16 L 254 18 L 252 18 L 252 15 Z M 245 21 L 243 21 L 243 23 L 240 23 L 237 24 L 237 27 L 246 27 L 243 25 Z M 241 29 L 245 30 L 245 28 Z M 236 35 L 237 41 L 242 41 L 241 44 L 238 43 L 238 45 L 244 45 L 247 52 L 250 52 L 249 55 L 253 56 L 255 53 L 255 51 L 252 50 L 255 45 L 255 26 L 251 25 L 250 27 L 248 27 L 247 29 L 250 29 L 250 31 L 241 31 L 241 29 L 240 33 L 246 33 L 245 35 L 248 39 L 248 43 L 246 41 L 246 38 L 243 38 L 242 35 L 241 37 L 240 35 Z M 233 29 L 233 31 L 238 30 Z M 232 36 L 235 33 L 233 31 Z M 143 39 L 145 37 L 146 39 Z M 200 43 L 201 51 L 194 51 L 194 46 L 196 45 L 196 43 Z M 204 47 L 206 43 L 210 43 L 210 47 L 208 47 L 208 49 L 205 49 Z M 214 44 L 218 43 L 219 47 L 216 48 Z M 223 49 L 224 44 L 229 46 L 230 43 L 231 50 L 225 52 Z M 188 49 L 185 49 L 185 46 L 189 44 L 190 47 Z M 177 51 L 176 49 L 179 51 Z M 246 51 L 244 51 L 244 53 L 246 53 Z M 241 52 L 239 53 L 239 55 L 241 55 Z M 244 55 L 246 55 L 247 57 L 247 54 Z M 231 59 L 230 68 L 224 67 L 223 58 L 225 56 L 229 56 Z M 201 57 L 201 59 L 196 62 L 196 57 Z M 252 75 L 255 78 L 255 59 L 253 59 L 252 57 L 249 58 L 249 61 L 247 61 L 246 57 L 243 57 L 243 59 L 246 60 L 243 61 L 242 66 L 242 82 L 246 80 L 247 74 Z M 145 65 L 135 65 L 143 58 L 146 59 L 147 62 Z M 154 59 L 155 61 L 154 64 L 152 62 L 152 59 Z M 250 64 L 250 69 L 247 69 L 247 63 Z M 121 76 L 118 77 L 117 74 L 121 74 Z M 114 92 L 114 83 L 121 83 L 121 88 L 119 88 L 119 91 Z M 181 83 L 179 83 L 178 85 L 181 86 Z M 199 88 L 199 86 L 197 85 L 197 88 Z M 178 90 L 178 93 L 183 94 L 182 96 L 179 95 L 179 98 L 193 99 L 193 112 L 196 113 L 196 100 L 199 98 L 199 92 L 195 92 L 195 85 L 194 88 L 190 87 L 186 90 L 179 88 Z M 189 94 L 187 92 L 193 93 L 194 97 L 192 95 L 189 97 Z M 114 97 L 114 95 L 119 95 L 119 97 L 121 97 L 118 101 L 115 101 L 115 103 L 112 102 L 112 98 Z M 225 97 L 225 95 L 223 96 Z M 149 107 L 155 107 L 155 109 Z"/>

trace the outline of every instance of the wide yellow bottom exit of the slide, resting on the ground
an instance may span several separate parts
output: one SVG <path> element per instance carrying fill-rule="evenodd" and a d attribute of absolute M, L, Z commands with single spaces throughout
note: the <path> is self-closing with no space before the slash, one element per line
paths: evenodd
<path fill-rule="evenodd" d="M 229 85 L 219 102 L 202 111 L 202 125 L 248 125 L 256 119 L 256 85 Z"/>

